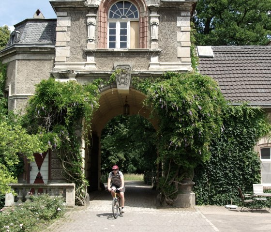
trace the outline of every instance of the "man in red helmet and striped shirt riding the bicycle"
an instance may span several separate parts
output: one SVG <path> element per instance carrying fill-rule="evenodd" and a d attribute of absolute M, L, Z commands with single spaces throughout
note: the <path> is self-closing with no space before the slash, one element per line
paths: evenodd
<path fill-rule="evenodd" d="M 112 180 L 112 185 L 110 186 Z M 112 167 L 112 171 L 109 173 L 108 181 L 107 181 L 107 189 L 111 192 L 112 197 L 114 198 L 114 191 L 116 188 L 120 188 L 120 199 L 121 199 L 121 213 L 124 213 L 124 177 L 122 172 L 119 170 L 117 165 Z"/>

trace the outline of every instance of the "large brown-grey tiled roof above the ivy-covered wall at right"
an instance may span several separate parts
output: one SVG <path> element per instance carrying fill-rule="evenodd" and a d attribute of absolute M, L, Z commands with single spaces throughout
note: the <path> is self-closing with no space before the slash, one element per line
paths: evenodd
<path fill-rule="evenodd" d="M 214 78 L 226 100 L 271 104 L 271 46 L 211 46 L 199 72 Z"/>

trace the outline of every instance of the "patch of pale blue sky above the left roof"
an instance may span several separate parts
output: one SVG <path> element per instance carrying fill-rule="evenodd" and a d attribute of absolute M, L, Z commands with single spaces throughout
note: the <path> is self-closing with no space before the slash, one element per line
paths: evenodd
<path fill-rule="evenodd" d="M 13 31 L 13 25 L 33 18 L 37 9 L 45 18 L 57 18 L 49 0 L 0 0 L 0 27 L 7 25 Z"/>

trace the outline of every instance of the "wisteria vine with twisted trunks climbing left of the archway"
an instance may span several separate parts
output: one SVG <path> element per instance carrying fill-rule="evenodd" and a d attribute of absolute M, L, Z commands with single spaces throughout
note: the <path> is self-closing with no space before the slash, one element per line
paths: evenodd
<path fill-rule="evenodd" d="M 24 116 L 24 126 L 31 134 L 57 152 L 67 181 L 75 183 L 75 203 L 85 204 L 86 186 L 83 158 L 77 133 L 90 131 L 90 121 L 99 107 L 98 87 L 80 85 L 75 81 L 61 83 L 54 78 L 42 80 L 30 98 Z M 82 126 L 84 120 L 84 128 Z M 87 140 L 87 136 L 84 138 Z"/>

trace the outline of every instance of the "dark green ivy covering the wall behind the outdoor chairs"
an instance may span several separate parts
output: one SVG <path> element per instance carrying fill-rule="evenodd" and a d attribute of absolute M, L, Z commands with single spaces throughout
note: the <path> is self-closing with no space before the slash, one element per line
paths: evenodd
<path fill-rule="evenodd" d="M 260 159 L 256 141 L 271 130 L 261 108 L 228 106 L 223 111 L 221 136 L 211 144 L 211 159 L 196 168 L 194 192 L 197 204 L 225 205 L 240 199 L 237 186 L 252 192 L 260 183 Z"/>

